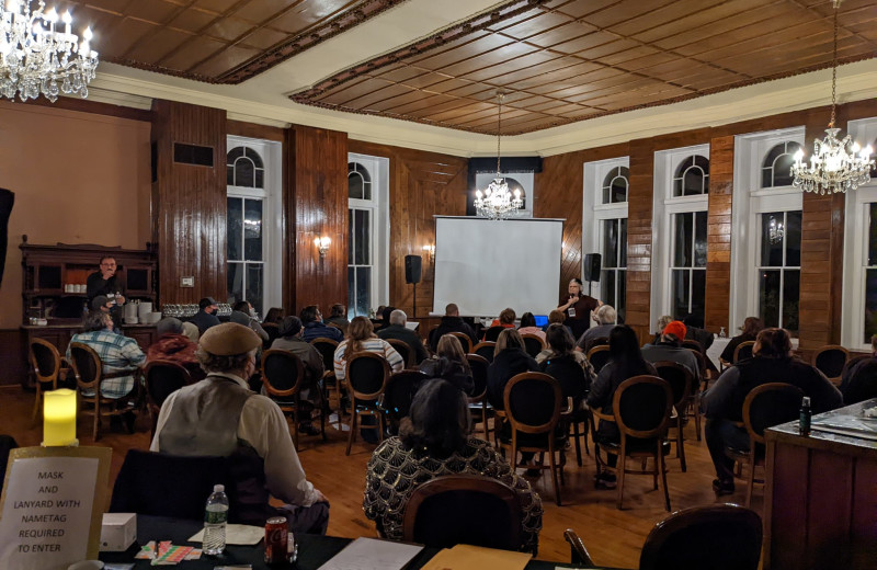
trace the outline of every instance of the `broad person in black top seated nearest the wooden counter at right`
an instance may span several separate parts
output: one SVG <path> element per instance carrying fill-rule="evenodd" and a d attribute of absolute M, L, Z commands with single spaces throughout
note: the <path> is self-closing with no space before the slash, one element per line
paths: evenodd
<path fill-rule="evenodd" d="M 743 419 L 743 401 L 754 388 L 767 383 L 797 386 L 810 397 L 813 413 L 822 413 L 843 403 L 841 392 L 816 367 L 791 354 L 791 339 L 784 329 L 764 329 L 755 339 L 753 357 L 725 371 L 703 397 L 706 417 L 706 445 L 718 478 L 713 481 L 716 494 L 733 492 L 733 461 L 725 447 L 749 449 L 745 429 L 734 422 Z"/>

